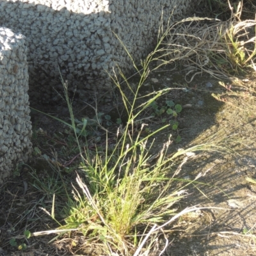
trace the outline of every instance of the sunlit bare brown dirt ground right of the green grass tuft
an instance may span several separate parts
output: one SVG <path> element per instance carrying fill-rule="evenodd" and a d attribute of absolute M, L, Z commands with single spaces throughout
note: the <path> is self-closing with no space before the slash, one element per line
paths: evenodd
<path fill-rule="evenodd" d="M 182 72 L 180 72 L 182 74 Z M 159 84 L 177 83 L 177 74 L 159 72 Z M 218 207 L 188 214 L 180 218 L 176 231 L 170 235 L 172 243 L 165 255 L 256 255 L 256 185 L 246 177 L 254 178 L 256 166 L 255 101 L 253 93 L 255 76 L 248 77 L 246 87 L 227 83 L 227 89 L 217 79 L 202 76 L 189 84 L 176 101 L 184 109 L 180 120 L 182 141 L 178 147 L 214 140 L 227 140 L 226 145 L 234 152 L 219 154 L 203 152 L 182 166 L 180 177 L 193 180 L 188 197 L 180 206 Z M 186 84 L 179 81 L 180 84 Z M 211 86 L 212 85 L 212 86 Z M 231 88 L 230 88 L 231 85 Z M 241 97 L 228 96 L 226 92 L 240 92 Z M 211 93 L 223 93 L 220 102 Z"/>

